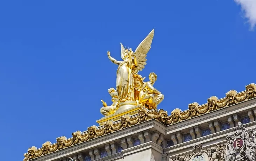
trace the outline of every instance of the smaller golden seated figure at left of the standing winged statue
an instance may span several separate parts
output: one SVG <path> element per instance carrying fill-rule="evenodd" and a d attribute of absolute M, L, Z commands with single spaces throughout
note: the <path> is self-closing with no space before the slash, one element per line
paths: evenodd
<path fill-rule="evenodd" d="M 103 107 L 101 107 L 100 109 L 100 113 L 102 113 L 104 116 L 108 116 L 110 114 L 114 114 L 116 112 L 116 106 L 118 104 L 118 100 L 119 100 L 119 97 L 118 97 L 118 94 L 116 92 L 116 90 L 114 88 L 110 88 L 108 90 L 110 96 L 111 96 L 111 100 L 112 100 L 112 105 L 110 106 L 107 106 L 106 102 L 104 102 L 103 100 L 102 101 L 102 104 L 103 104 Z"/>

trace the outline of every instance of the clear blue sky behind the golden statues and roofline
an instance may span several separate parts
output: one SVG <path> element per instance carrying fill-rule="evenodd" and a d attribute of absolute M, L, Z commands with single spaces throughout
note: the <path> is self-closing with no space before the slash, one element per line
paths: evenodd
<path fill-rule="evenodd" d="M 255 1 L 254 1 L 255 2 Z M 97 125 L 111 103 L 120 42 L 133 50 L 154 28 L 140 74 L 170 112 L 256 83 L 255 14 L 239 0 L 1 1 L 2 160 Z M 256 10 L 256 9 L 255 9 Z"/>

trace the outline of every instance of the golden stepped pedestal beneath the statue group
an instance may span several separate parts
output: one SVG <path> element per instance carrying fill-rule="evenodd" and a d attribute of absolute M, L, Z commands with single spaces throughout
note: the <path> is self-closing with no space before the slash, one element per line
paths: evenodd
<path fill-rule="evenodd" d="M 124 102 L 123 104 L 121 104 L 119 106 L 120 110 L 118 109 L 116 111 L 116 113 L 114 113 L 112 115 L 109 115 L 109 116 L 102 117 L 101 119 L 97 120 L 96 122 L 99 125 L 103 125 L 108 120 L 117 121 L 117 120 L 121 119 L 121 116 L 124 116 L 125 114 L 130 114 L 130 115 L 136 114 L 136 113 L 138 113 L 138 110 L 140 110 L 142 108 L 144 108 L 144 107 L 141 106 L 141 105 L 136 105 L 136 104 L 135 105 L 128 105 L 128 104 L 126 104 L 126 102 Z"/>

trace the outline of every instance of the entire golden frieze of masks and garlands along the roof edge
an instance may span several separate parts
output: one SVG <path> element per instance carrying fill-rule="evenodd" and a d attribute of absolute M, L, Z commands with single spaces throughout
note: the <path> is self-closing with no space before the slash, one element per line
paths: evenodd
<path fill-rule="evenodd" d="M 47 141 L 39 149 L 34 146 L 28 148 L 28 152 L 24 154 L 25 158 L 23 161 L 59 151 L 63 148 L 67 148 L 129 126 L 142 123 L 146 120 L 156 119 L 164 125 L 171 125 L 256 97 L 256 85 L 254 83 L 247 85 L 245 88 L 245 91 L 239 93 L 237 93 L 235 90 L 230 90 L 226 93 L 226 97 L 221 99 L 212 96 L 208 98 L 207 103 L 203 105 L 199 105 L 198 103 L 191 103 L 188 105 L 188 110 L 181 111 L 180 109 L 175 109 L 171 112 L 170 116 L 168 116 L 167 111 L 162 109 L 157 111 L 155 109 L 148 110 L 143 108 L 138 110 L 138 113 L 134 116 L 125 114 L 121 117 L 120 120 L 116 122 L 108 120 L 101 126 L 88 127 L 87 131 L 84 133 L 81 131 L 76 131 L 72 133 L 72 138 L 67 139 L 66 137 L 62 136 L 56 138 L 56 143 L 54 144 Z"/>

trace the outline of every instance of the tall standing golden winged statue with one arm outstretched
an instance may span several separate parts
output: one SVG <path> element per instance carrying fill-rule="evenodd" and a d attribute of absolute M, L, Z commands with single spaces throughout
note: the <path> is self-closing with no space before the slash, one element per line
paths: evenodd
<path fill-rule="evenodd" d="M 124 102 L 126 102 L 126 104 L 128 104 L 127 102 L 136 103 L 137 96 L 134 78 L 138 76 L 138 72 L 142 71 L 142 69 L 144 69 L 145 65 L 147 64 L 146 57 L 148 51 L 151 48 L 153 37 L 154 29 L 139 44 L 135 52 L 133 52 L 131 48 L 129 50 L 124 48 L 123 44 L 120 43 L 121 58 L 123 59 L 122 61 L 117 61 L 115 58 L 110 56 L 110 51 L 107 52 L 110 61 L 118 65 L 116 72 L 116 92 L 119 97 L 118 104 L 122 104 Z M 117 107 L 116 109 L 118 110 Z M 107 115 L 106 112 L 104 113 L 104 115 Z"/>

